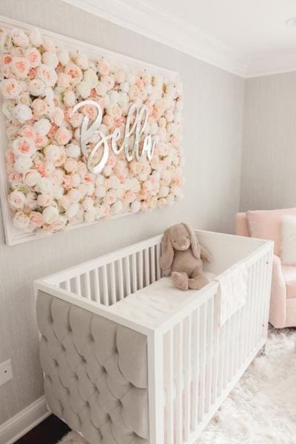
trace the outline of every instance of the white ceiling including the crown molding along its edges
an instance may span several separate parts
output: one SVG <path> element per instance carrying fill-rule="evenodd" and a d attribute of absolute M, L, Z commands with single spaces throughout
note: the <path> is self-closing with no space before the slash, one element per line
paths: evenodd
<path fill-rule="evenodd" d="M 64 0 L 241 76 L 296 70 L 296 0 Z"/>

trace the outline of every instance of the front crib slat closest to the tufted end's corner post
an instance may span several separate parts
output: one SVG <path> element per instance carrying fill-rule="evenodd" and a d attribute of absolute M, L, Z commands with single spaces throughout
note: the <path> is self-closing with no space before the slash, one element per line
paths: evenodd
<path fill-rule="evenodd" d="M 173 330 L 168 332 L 168 378 L 167 384 L 167 444 L 174 443 L 174 335 Z"/>

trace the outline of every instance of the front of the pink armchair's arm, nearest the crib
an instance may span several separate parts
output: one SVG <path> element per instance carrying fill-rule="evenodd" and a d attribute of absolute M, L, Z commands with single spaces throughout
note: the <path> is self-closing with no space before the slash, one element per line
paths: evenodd
<path fill-rule="evenodd" d="M 286 298 L 286 282 L 281 273 L 281 259 L 279 256 L 273 255 L 269 320 L 276 328 L 285 326 Z"/>

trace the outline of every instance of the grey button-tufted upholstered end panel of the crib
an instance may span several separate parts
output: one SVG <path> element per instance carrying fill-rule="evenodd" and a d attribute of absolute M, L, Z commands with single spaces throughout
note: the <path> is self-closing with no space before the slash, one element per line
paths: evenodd
<path fill-rule="evenodd" d="M 91 444 L 148 443 L 146 336 L 39 291 L 49 408 Z"/>

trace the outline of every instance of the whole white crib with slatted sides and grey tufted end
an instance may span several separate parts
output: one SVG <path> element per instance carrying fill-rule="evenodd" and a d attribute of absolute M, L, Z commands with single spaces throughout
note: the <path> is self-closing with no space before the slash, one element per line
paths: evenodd
<path fill-rule="evenodd" d="M 223 325 L 216 280 L 182 292 L 162 278 L 162 236 L 35 282 L 49 409 L 90 444 L 195 443 L 265 343 L 272 243 L 198 237 L 207 273 L 247 268 Z"/>

